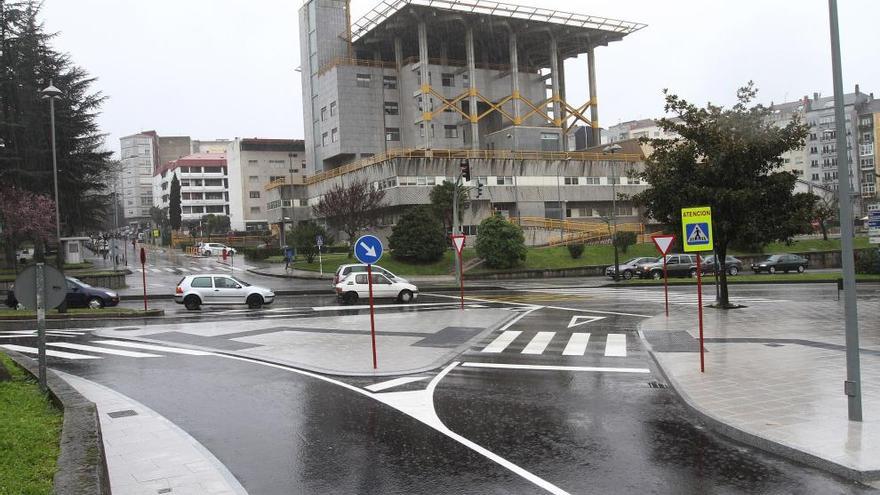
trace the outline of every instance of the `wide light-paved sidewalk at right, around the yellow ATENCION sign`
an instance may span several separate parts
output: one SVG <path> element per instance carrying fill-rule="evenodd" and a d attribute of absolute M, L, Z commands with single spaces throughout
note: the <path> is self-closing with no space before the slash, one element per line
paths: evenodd
<path fill-rule="evenodd" d="M 880 299 L 861 297 L 864 421 L 847 418 L 843 301 L 787 301 L 704 311 L 700 373 L 696 308 L 642 323 L 672 387 L 722 433 L 853 479 L 880 479 Z"/>

